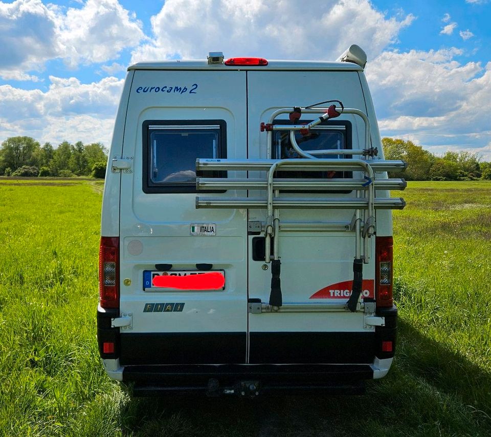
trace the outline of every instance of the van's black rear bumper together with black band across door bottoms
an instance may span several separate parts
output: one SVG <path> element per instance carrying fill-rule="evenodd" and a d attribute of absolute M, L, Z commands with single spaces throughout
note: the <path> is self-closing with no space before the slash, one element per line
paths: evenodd
<path fill-rule="evenodd" d="M 117 317 L 117 310 L 98 311 L 99 349 L 107 374 L 113 379 L 134 383 L 133 392 L 136 395 L 200 391 L 208 394 L 242 393 L 244 389 L 241 384 L 251 381 L 253 385 L 260 387 L 261 392 L 319 389 L 331 393 L 361 393 L 364 380 L 382 378 L 388 373 L 395 351 L 397 308 L 393 306 L 377 309 L 377 315 L 385 318 L 385 326 L 377 326 L 371 332 L 355 333 L 354 337 L 343 332 L 331 332 L 322 333 L 318 341 L 314 341 L 321 334 L 279 333 L 284 337 L 284 342 L 281 342 L 281 335 L 267 333 L 276 335 L 274 342 L 269 342 L 270 349 L 274 349 L 272 345 L 280 350 L 288 349 L 289 358 L 292 359 L 289 362 L 297 362 L 296 364 L 276 361 L 275 364 L 216 365 L 213 362 L 237 362 L 237 357 L 242 357 L 243 354 L 235 349 L 245 338 L 237 341 L 236 334 L 228 333 L 217 339 L 214 333 L 209 339 L 212 343 L 208 345 L 203 333 L 197 339 L 194 335 L 181 335 L 178 343 L 169 343 L 168 338 L 161 334 L 149 334 L 151 341 L 142 341 L 146 338 L 122 334 L 119 328 L 111 327 L 111 317 Z M 297 338 L 298 336 L 300 337 Z M 162 338 L 166 341 L 162 342 Z M 297 342 L 294 341 L 296 338 Z M 129 339 L 132 339 L 129 343 L 131 348 L 127 344 Z M 261 338 L 261 343 L 265 343 L 267 339 Z M 103 353 L 104 341 L 115 343 L 114 353 Z M 187 348 L 186 342 L 189 343 Z M 301 346 L 302 342 L 304 347 Z M 383 350 L 383 342 L 392 342 L 392 350 Z M 292 349 L 292 343 L 298 344 L 298 347 Z M 230 347 L 231 344 L 234 346 Z M 176 354 L 175 350 L 179 348 L 182 349 L 181 353 Z M 210 358 L 210 350 L 215 351 L 218 356 L 212 355 L 213 361 L 204 362 L 204 357 L 199 354 L 206 352 L 206 356 Z M 263 350 L 259 356 L 264 359 L 267 353 L 271 354 L 271 350 Z M 306 353 L 308 350 L 315 352 L 314 355 Z M 230 357 L 232 352 L 234 356 Z M 273 356 L 266 358 L 274 362 Z M 193 361 L 189 362 L 190 359 Z M 314 363 L 316 359 L 322 360 L 324 364 Z M 201 364 L 193 364 L 200 361 Z"/>

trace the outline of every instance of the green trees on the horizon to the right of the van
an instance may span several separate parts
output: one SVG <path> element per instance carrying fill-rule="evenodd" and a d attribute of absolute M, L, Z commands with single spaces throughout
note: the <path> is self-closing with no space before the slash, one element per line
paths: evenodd
<path fill-rule="evenodd" d="M 408 168 L 403 174 L 389 174 L 408 181 L 472 181 L 491 179 L 491 162 L 477 153 L 446 152 L 437 156 L 412 141 L 382 138 L 385 159 L 403 159 Z"/>

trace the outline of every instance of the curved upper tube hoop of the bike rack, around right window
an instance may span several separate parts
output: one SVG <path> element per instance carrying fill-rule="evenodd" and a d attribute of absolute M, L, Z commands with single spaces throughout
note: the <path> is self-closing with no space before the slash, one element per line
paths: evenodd
<path fill-rule="evenodd" d="M 282 108 L 282 109 L 276 110 L 275 112 L 273 112 L 273 114 L 271 114 L 271 117 L 269 119 L 269 124 L 273 124 L 275 118 L 278 115 L 289 114 L 290 112 L 292 112 L 292 109 L 293 108 Z M 328 109 L 329 108 L 312 108 L 312 109 L 300 108 L 300 111 L 302 114 L 320 114 L 320 113 L 322 113 L 324 115 L 327 115 Z M 344 108 L 344 109 L 336 108 L 336 110 L 338 112 L 341 112 L 342 114 L 358 115 L 363 119 L 363 121 L 365 122 L 365 148 L 368 149 L 370 147 L 370 122 L 368 120 L 367 114 L 365 114 L 365 112 L 363 112 L 363 111 L 360 111 L 359 109 L 354 109 L 354 108 Z M 273 125 L 273 131 L 278 131 L 278 130 L 299 131 L 299 130 L 303 130 L 303 129 L 309 129 L 309 128 L 313 128 L 313 127 L 319 125 L 325 119 L 326 118 L 323 118 L 323 116 L 320 116 L 319 118 L 317 118 L 313 122 L 310 122 L 307 125 Z M 266 135 L 266 147 L 267 147 L 266 157 L 268 159 L 270 159 L 271 158 L 271 148 L 272 148 L 272 144 L 273 144 L 273 141 L 272 141 L 273 132 L 272 131 L 266 131 L 266 134 L 267 134 Z M 295 134 L 294 134 L 294 136 L 295 136 Z M 295 144 L 296 144 L 296 142 L 295 142 Z"/>

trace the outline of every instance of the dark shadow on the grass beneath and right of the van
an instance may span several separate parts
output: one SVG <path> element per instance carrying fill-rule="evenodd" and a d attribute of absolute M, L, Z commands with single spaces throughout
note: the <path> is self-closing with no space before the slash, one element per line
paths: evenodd
<path fill-rule="evenodd" d="M 394 366 L 362 396 L 133 398 L 129 436 L 491 435 L 491 375 L 400 322 Z"/>

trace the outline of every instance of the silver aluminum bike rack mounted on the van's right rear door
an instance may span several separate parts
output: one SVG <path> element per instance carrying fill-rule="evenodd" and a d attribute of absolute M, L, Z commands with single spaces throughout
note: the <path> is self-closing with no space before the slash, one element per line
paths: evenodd
<path fill-rule="evenodd" d="M 353 114 L 362 118 L 365 125 L 365 148 L 364 149 L 342 149 L 304 151 L 297 144 L 296 131 L 308 131 L 321 124 L 324 120 L 332 118 L 330 108 L 295 108 L 301 113 L 322 113 L 313 122 L 308 124 L 275 125 L 274 120 L 278 115 L 291 113 L 292 108 L 279 109 L 271 115 L 269 123 L 261 124 L 261 131 L 266 131 L 266 156 L 267 159 L 200 159 L 196 160 L 197 171 L 265 171 L 266 178 L 196 178 L 196 189 L 199 190 L 266 190 L 265 198 L 239 198 L 239 197 L 196 197 L 196 208 L 260 208 L 266 209 L 265 229 L 265 253 L 273 255 L 265 259 L 266 263 L 272 264 L 272 290 L 270 306 L 273 311 L 282 306 L 280 288 L 280 256 L 279 256 L 279 234 L 280 234 L 280 210 L 281 209 L 352 209 L 353 216 L 350 222 L 331 223 L 332 229 L 340 226 L 346 230 L 354 231 L 355 250 L 353 263 L 353 299 L 349 299 L 347 309 L 356 310 L 361 292 L 362 266 L 369 262 L 368 240 L 375 234 L 375 210 L 377 209 L 403 209 L 406 205 L 401 198 L 376 197 L 377 190 L 399 189 L 406 187 L 404 179 L 388 179 L 385 175 L 378 176 L 381 172 L 397 172 L 407 167 L 404 161 L 391 161 L 375 159 L 377 149 L 371 147 L 370 123 L 367 115 L 358 109 L 335 108 L 343 114 Z M 295 110 L 294 109 L 294 110 Z M 337 114 L 339 115 L 339 114 Z M 334 115 L 334 116 L 337 116 Z M 272 132 L 289 131 L 289 139 L 295 151 L 302 156 L 298 159 L 271 159 L 272 156 Z M 338 159 L 317 158 L 316 155 L 353 155 L 364 159 Z M 308 172 L 308 171 L 350 171 L 359 172 L 363 178 L 347 179 L 295 179 L 275 178 L 277 171 L 284 172 Z M 377 179 L 377 177 L 379 179 Z M 350 198 L 311 198 L 311 197 L 280 197 L 280 191 L 329 191 L 346 190 L 354 191 L 354 197 Z M 329 222 L 323 222 L 329 229 Z M 286 225 L 286 224 L 285 224 Z M 288 224 L 297 229 L 309 229 L 309 223 Z M 287 225 L 285 226 L 285 228 Z M 311 227 L 310 227 L 311 229 Z M 355 290 L 355 288 L 360 288 Z M 356 291 L 356 293 L 355 293 Z"/>

